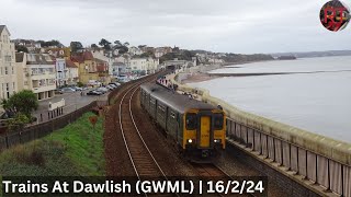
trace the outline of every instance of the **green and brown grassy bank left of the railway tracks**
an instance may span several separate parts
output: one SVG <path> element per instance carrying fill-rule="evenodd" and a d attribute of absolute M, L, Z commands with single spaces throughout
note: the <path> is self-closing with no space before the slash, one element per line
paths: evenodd
<path fill-rule="evenodd" d="M 102 118 L 84 114 L 52 135 L 0 153 L 1 176 L 105 176 Z"/>

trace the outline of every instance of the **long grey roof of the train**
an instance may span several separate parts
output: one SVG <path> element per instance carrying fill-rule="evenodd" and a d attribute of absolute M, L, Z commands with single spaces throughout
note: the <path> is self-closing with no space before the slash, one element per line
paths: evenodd
<path fill-rule="evenodd" d="M 140 88 L 150 93 L 152 97 L 162 102 L 163 104 L 171 106 L 173 109 L 184 114 L 186 111 L 192 108 L 199 109 L 215 109 L 216 107 L 197 101 L 190 99 L 188 95 L 182 95 L 177 92 L 172 92 L 171 90 L 161 86 L 156 83 L 145 83 L 141 84 Z"/>

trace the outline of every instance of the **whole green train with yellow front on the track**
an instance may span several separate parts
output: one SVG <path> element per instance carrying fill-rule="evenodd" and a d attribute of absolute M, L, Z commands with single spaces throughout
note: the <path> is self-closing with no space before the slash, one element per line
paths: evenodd
<path fill-rule="evenodd" d="M 186 160 L 212 162 L 226 148 L 226 115 L 220 107 L 155 82 L 140 85 L 140 105 Z"/>

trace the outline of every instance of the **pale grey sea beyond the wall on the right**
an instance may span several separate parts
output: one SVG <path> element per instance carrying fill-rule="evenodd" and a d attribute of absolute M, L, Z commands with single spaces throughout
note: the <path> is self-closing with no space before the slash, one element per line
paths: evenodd
<path fill-rule="evenodd" d="M 225 77 L 189 83 L 252 114 L 351 143 L 351 56 L 261 61 L 211 73 L 286 73 Z"/>

